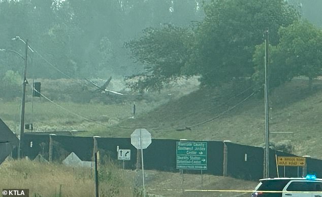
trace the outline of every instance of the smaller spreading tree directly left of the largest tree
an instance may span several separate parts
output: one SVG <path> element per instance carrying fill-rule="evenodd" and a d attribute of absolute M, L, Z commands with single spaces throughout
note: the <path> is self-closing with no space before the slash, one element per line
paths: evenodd
<path fill-rule="evenodd" d="M 131 85 L 134 90 L 160 90 L 163 83 L 179 76 L 188 60 L 192 32 L 187 28 L 166 24 L 162 28 L 146 28 L 138 40 L 125 43 L 136 63 L 144 65 L 140 80 Z M 134 75 L 130 78 L 137 77 Z"/>

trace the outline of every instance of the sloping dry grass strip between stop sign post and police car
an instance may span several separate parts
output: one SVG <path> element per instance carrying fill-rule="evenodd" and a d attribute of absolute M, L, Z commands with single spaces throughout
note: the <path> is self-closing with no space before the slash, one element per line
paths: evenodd
<path fill-rule="evenodd" d="M 180 191 L 182 189 L 204 190 L 253 190 L 257 181 L 238 180 L 209 174 L 179 174 L 146 171 L 147 192 L 172 197 L 194 196 L 250 196 L 245 192 Z M 169 190 L 168 190 L 169 189 Z M 173 189 L 173 190 L 172 190 Z M 243 195 L 244 194 L 244 195 Z"/>

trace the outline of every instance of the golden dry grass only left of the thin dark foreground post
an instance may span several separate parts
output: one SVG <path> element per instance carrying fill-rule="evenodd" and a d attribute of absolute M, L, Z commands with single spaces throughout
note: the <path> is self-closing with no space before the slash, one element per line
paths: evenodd
<path fill-rule="evenodd" d="M 62 165 L 40 164 L 28 160 L 6 161 L 0 166 L 2 188 L 27 188 L 31 195 L 92 196 L 93 181 L 86 169 L 73 170 Z M 81 179 L 80 175 L 86 177 Z"/>

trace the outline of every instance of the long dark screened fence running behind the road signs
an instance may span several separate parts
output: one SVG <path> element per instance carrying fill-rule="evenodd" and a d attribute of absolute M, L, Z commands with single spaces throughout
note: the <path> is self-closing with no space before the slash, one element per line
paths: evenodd
<path fill-rule="evenodd" d="M 51 136 L 52 159 L 62 161 L 71 152 L 75 152 L 83 161 L 92 161 L 94 139 L 93 137 Z M 130 138 L 95 138 L 100 157 L 121 164 L 117 160 L 117 147 L 131 150 L 131 160 L 125 161 L 125 169 L 135 169 L 137 163 L 137 149 L 131 144 Z M 152 143 L 143 150 L 144 167 L 147 170 L 160 170 L 178 172 L 176 169 L 176 142 L 178 140 L 152 139 Z M 30 159 L 42 154 L 49 159 L 49 136 L 25 135 L 23 153 Z M 226 146 L 224 145 L 226 144 Z M 226 155 L 225 152 L 227 153 Z M 296 156 L 270 149 L 270 177 L 302 177 L 302 167 L 276 168 L 276 156 Z M 226 160 L 225 160 L 226 158 Z M 307 172 L 322 177 L 322 161 L 307 159 Z M 226 172 L 224 171 L 226 167 Z M 264 148 L 234 144 L 231 142 L 207 142 L 207 170 L 203 173 L 213 175 L 228 175 L 246 180 L 263 178 Z M 187 173 L 200 173 L 200 171 L 185 170 Z M 225 174 L 226 173 L 226 174 Z"/>

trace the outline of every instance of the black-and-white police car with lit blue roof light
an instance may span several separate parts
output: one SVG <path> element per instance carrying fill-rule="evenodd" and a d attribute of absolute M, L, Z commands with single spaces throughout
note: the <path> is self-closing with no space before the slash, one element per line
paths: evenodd
<path fill-rule="evenodd" d="M 322 179 L 305 178 L 260 179 L 251 197 L 322 197 Z"/>

